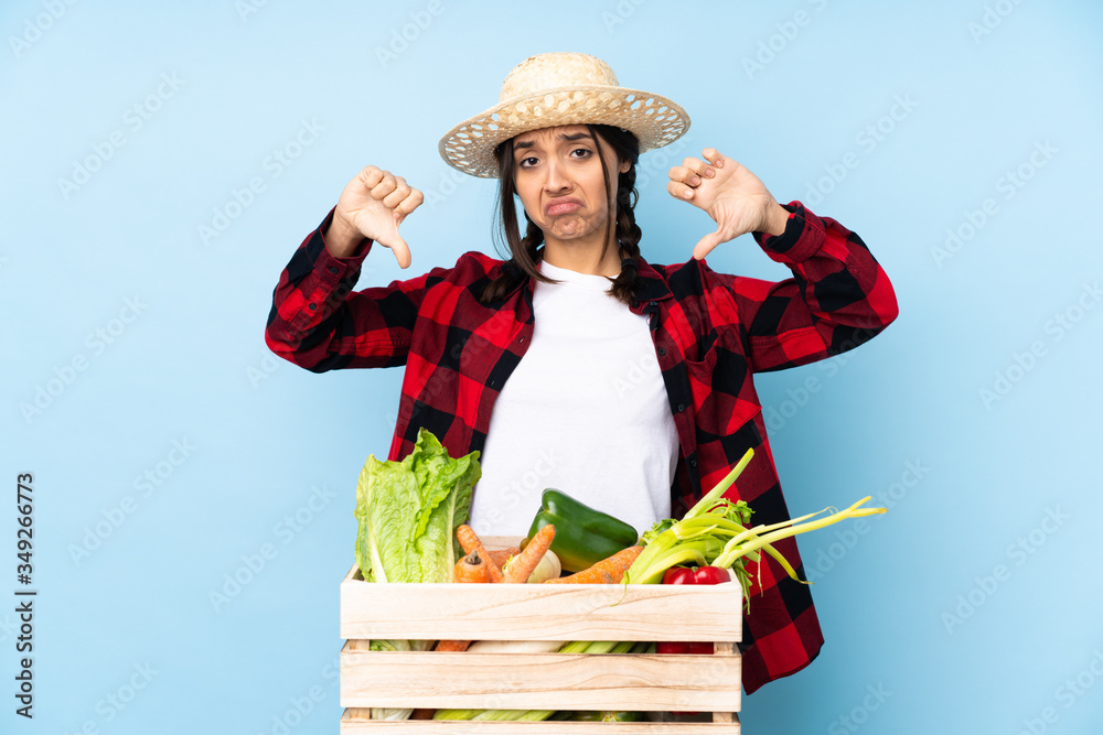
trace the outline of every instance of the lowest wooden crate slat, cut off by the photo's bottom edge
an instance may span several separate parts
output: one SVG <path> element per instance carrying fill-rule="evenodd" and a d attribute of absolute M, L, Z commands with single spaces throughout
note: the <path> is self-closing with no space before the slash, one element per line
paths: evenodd
<path fill-rule="evenodd" d="M 711 722 L 447 722 L 368 720 L 368 710 L 345 710 L 341 735 L 740 735 L 739 718 Z"/>

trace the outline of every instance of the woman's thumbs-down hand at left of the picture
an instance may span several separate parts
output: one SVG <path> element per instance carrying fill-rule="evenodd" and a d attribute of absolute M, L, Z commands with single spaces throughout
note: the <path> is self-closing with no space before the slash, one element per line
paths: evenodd
<path fill-rule="evenodd" d="M 410 250 L 398 225 L 425 197 L 401 176 L 366 166 L 341 192 L 325 244 L 334 257 L 347 257 L 366 237 L 390 248 L 400 268 L 409 268 Z"/>

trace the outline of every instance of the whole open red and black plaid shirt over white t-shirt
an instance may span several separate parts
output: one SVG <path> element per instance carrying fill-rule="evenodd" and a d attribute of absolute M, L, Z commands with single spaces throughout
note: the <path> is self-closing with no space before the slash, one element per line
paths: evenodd
<path fill-rule="evenodd" d="M 642 289 L 631 309 L 650 316 L 681 445 L 671 488 L 676 518 L 753 447 L 728 496 L 750 504 L 756 523 L 789 519 L 752 374 L 843 353 L 897 315 L 888 277 L 857 235 L 799 202 L 786 209 L 784 234 L 754 234 L 770 258 L 793 271 L 785 281 L 715 273 L 696 260 L 639 263 Z M 534 282 L 482 304 L 478 294 L 502 261 L 469 252 L 452 268 L 353 291 L 372 244 L 353 257 L 332 257 L 321 235 L 330 217 L 276 287 L 268 346 L 315 372 L 405 365 L 390 460 L 413 451 L 421 426 L 453 456 L 481 451 L 494 400 L 532 341 Z M 803 576 L 795 541 L 777 545 Z M 807 586 L 763 559 L 761 590 L 752 590 L 745 620 L 748 693 L 804 668 L 823 645 Z"/>

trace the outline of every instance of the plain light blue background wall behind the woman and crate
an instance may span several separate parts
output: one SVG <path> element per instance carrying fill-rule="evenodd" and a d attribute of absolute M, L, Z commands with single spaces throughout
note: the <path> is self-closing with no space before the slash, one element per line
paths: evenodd
<path fill-rule="evenodd" d="M 2 471 L 34 474 L 40 595 L 33 722 L 0 606 L 0 729 L 336 732 L 355 480 L 400 371 L 277 361 L 271 290 L 368 163 L 429 201 L 413 270 L 381 250 L 362 284 L 492 251 L 494 184 L 437 140 L 526 56 L 585 51 L 693 118 L 641 160 L 645 257 L 710 229 L 664 182 L 715 145 L 858 231 L 900 302 L 758 380 L 794 515 L 891 510 L 802 537 L 827 642 L 745 731 L 1099 732 L 1100 6 L 474 6 L 3 4 Z M 786 275 L 749 237 L 709 263 Z"/>

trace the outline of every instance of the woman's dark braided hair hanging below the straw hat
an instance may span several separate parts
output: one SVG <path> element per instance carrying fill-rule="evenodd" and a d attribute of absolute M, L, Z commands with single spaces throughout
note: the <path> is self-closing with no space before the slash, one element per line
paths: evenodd
<path fill-rule="evenodd" d="M 640 198 L 640 193 L 635 190 L 635 164 L 640 160 L 640 141 L 634 134 L 622 128 L 606 125 L 588 125 L 586 127 L 589 128 L 595 142 L 600 136 L 612 147 L 619 160 L 631 163 L 627 172 L 618 174 L 617 193 L 609 202 L 609 210 L 617 213 L 615 219 L 611 218 L 610 227 L 615 227 L 614 240 L 622 255 L 621 272 L 615 279 L 611 279 L 613 287 L 610 293 L 618 301 L 631 304 L 640 285 L 638 259 L 640 258 L 640 238 L 643 236 L 640 227 L 635 224 L 634 212 L 635 204 Z M 598 150 L 600 151 L 600 148 Z M 500 143 L 494 149 L 494 156 L 497 159 L 500 175 L 496 214 L 501 234 L 505 238 L 511 257 L 505 261 L 502 274 L 488 283 L 480 294 L 479 300 L 483 303 L 501 300 L 526 275 L 545 283 L 554 282 L 536 269 L 536 252 L 544 244 L 544 233 L 528 217 L 527 213 L 525 213 L 525 220 L 528 223 L 528 227 L 524 237 L 521 237 L 517 227 L 517 209 L 514 199 L 517 188 L 513 179 L 512 139 Z M 608 188 L 609 170 L 604 158 L 599 155 L 598 159 L 601 161 L 601 172 Z M 603 257 L 604 252 L 601 255 Z"/>

